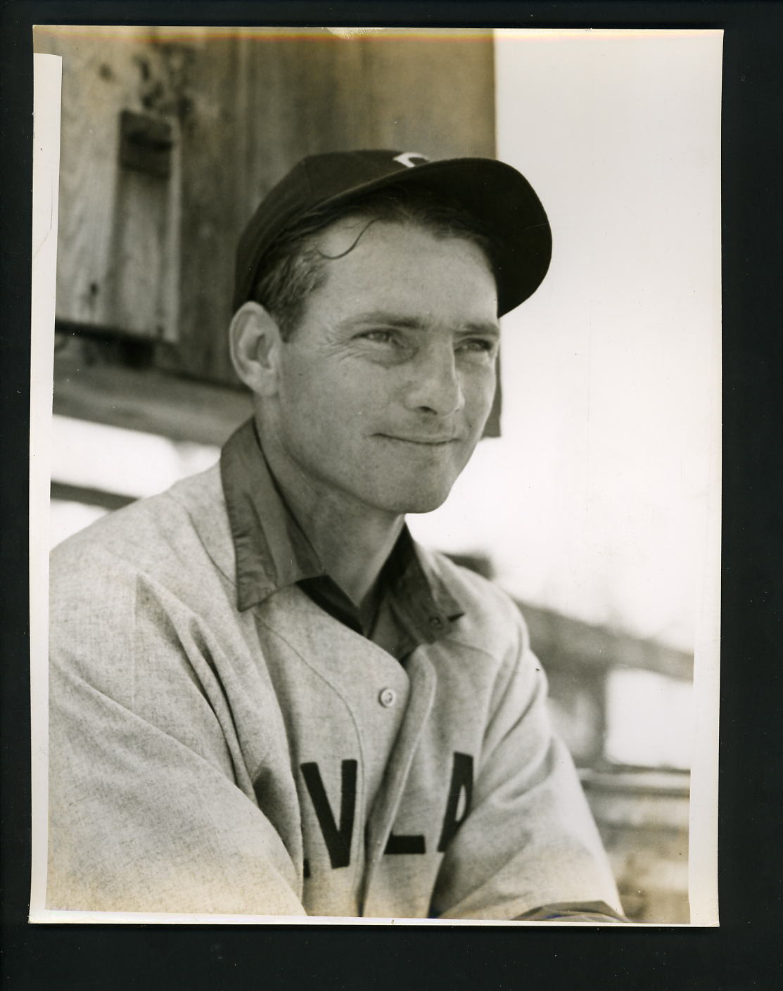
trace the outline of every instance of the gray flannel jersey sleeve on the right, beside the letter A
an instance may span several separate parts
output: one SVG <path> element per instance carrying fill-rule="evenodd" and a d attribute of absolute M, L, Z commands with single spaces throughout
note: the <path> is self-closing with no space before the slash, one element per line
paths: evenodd
<path fill-rule="evenodd" d="M 573 761 L 553 732 L 546 677 L 511 603 L 510 675 L 489 719 L 467 816 L 444 854 L 432 915 L 518 919 L 606 903 L 615 880 Z"/>

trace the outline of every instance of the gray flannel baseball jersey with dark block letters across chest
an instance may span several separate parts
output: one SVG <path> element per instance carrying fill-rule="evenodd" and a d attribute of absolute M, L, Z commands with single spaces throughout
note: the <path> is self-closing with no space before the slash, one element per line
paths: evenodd
<path fill-rule="evenodd" d="M 464 613 L 403 665 L 296 585 L 238 607 L 217 467 L 60 545 L 48 906 L 618 908 L 518 609 L 418 554 Z"/>

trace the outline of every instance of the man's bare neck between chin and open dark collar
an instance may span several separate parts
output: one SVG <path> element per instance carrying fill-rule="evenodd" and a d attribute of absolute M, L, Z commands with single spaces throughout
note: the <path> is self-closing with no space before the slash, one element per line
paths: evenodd
<path fill-rule="evenodd" d="M 404 523 L 306 476 L 270 438 L 264 454 L 288 508 L 324 570 L 356 606 L 370 596 Z"/>

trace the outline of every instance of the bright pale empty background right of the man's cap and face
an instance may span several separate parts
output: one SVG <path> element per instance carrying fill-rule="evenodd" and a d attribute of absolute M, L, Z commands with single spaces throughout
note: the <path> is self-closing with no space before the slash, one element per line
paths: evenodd
<path fill-rule="evenodd" d="M 552 265 L 503 320 L 503 436 L 420 532 L 491 548 L 526 601 L 692 651 L 721 443 L 720 43 L 499 32 L 495 57 L 498 156 L 549 213 Z"/>

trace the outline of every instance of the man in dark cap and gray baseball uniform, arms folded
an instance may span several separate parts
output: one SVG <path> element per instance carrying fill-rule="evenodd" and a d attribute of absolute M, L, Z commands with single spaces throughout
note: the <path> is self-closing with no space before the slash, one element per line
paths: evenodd
<path fill-rule="evenodd" d="M 270 192 L 230 331 L 253 420 L 54 555 L 51 908 L 617 918 L 518 610 L 404 525 L 550 251 L 490 160 L 316 156 Z"/>

